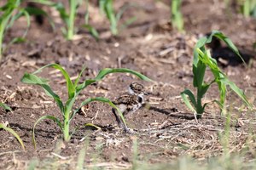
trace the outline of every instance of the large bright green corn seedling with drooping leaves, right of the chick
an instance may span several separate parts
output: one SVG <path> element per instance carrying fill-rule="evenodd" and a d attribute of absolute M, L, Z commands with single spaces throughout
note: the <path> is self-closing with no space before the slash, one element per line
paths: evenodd
<path fill-rule="evenodd" d="M 218 68 L 216 59 L 212 59 L 210 51 L 207 50 L 205 45 L 212 42 L 212 37 L 217 37 L 218 39 L 224 41 L 229 48 L 233 50 L 241 58 L 236 46 L 231 42 L 230 38 L 225 37 L 220 31 L 212 31 L 211 35 L 208 37 L 202 37 L 196 44 L 194 48 L 194 59 L 193 59 L 193 86 L 196 88 L 196 97 L 189 89 L 185 89 L 181 95 L 185 105 L 189 107 L 191 111 L 194 111 L 196 118 L 201 118 L 205 107 L 208 103 L 202 105 L 202 98 L 207 93 L 212 83 L 216 82 L 218 84 L 219 100 L 214 100 L 224 111 L 224 101 L 226 98 L 226 88 L 230 87 L 250 108 L 252 105 L 247 101 L 247 97 L 240 88 L 236 86 L 234 82 L 231 82 L 229 78 Z M 242 58 L 241 58 L 242 59 Z M 243 59 L 242 59 L 243 60 Z M 212 72 L 214 79 L 212 82 L 204 82 L 205 72 L 207 67 Z M 188 98 L 189 96 L 189 98 Z"/>

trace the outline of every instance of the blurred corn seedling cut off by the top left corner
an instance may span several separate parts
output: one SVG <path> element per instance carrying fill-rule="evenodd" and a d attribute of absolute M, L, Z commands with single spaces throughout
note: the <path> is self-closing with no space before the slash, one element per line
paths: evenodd
<path fill-rule="evenodd" d="M 2 59 L 3 54 L 3 37 L 5 32 L 13 26 L 15 20 L 18 20 L 20 16 L 26 16 L 27 28 L 23 34 L 24 38 L 30 26 L 30 17 L 26 12 L 25 8 L 20 8 L 20 0 L 9 0 L 6 4 L 0 7 L 0 60 Z M 18 42 L 22 38 L 15 38 L 12 42 Z"/>

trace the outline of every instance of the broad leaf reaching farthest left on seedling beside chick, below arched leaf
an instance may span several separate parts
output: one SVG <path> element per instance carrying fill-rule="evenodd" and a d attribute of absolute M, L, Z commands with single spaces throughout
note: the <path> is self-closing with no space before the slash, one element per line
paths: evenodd
<path fill-rule="evenodd" d="M 63 103 L 62 103 L 60 97 L 52 91 L 52 89 L 49 87 L 49 85 L 45 79 L 37 77 L 34 74 L 25 73 L 20 81 L 25 82 L 27 84 L 35 84 L 35 85 L 38 85 L 38 86 L 44 88 L 45 93 L 47 95 L 49 95 L 50 97 L 52 97 L 53 99 L 55 99 L 55 102 L 60 107 L 61 112 L 64 113 L 64 106 L 63 106 Z"/>

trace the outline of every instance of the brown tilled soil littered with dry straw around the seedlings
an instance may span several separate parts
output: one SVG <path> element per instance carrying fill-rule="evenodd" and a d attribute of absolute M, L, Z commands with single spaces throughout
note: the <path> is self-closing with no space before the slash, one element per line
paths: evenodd
<path fill-rule="evenodd" d="M 116 8 L 124 2 L 117 1 Z M 256 37 L 256 20 L 246 19 L 235 10 L 226 10 L 222 1 L 186 0 L 182 8 L 186 33 L 182 34 L 173 30 L 168 22 L 170 14 L 167 3 L 155 3 L 153 0 L 147 3 L 135 0 L 129 2 L 137 3 L 137 8 L 125 11 L 121 21 L 134 15 L 137 21 L 121 31 L 118 37 L 109 36 L 107 21 L 91 18 L 92 23 L 101 31 L 102 38 L 96 42 L 87 31 L 81 29 L 78 38 L 68 42 L 61 37 L 58 28 L 60 32 L 51 30 L 47 20 L 39 25 L 33 19 L 27 41 L 13 44 L 5 51 L 0 65 L 0 100 L 14 111 L 0 108 L 0 122 L 8 123 L 9 127 L 20 134 L 26 151 L 21 150 L 12 135 L 0 130 L 0 161 L 4 162 L 0 165 L 1 169 L 24 168 L 35 157 L 44 161 L 58 160 L 73 169 L 79 150 L 84 148 L 84 141 L 88 142 L 86 164 L 112 162 L 115 168 L 130 167 L 132 145 L 136 139 L 139 159 L 152 163 L 170 162 L 177 156 L 189 155 L 205 160 L 223 154 L 222 137 L 225 134 L 226 117 L 220 116 L 218 105 L 208 105 L 207 113 L 196 122 L 192 112 L 183 104 L 180 93 L 184 88 L 193 89 L 191 64 L 196 40 L 212 30 L 219 30 L 239 47 L 249 66 L 246 68 L 241 65 L 224 47 L 212 48 L 216 49 L 216 54 L 230 56 L 218 59 L 219 65 L 255 104 L 256 54 L 253 42 Z M 81 10 L 81 14 L 83 12 Z M 82 15 L 80 20 L 83 20 Z M 7 33 L 6 43 L 12 37 L 22 35 L 24 23 L 24 19 L 18 20 Z M 77 23 L 79 25 L 80 21 Z M 36 71 L 49 63 L 63 65 L 71 77 L 77 76 L 82 66 L 87 65 L 83 80 L 95 77 L 98 71 L 106 67 L 130 68 L 153 79 L 155 82 L 142 82 L 131 75 L 112 74 L 84 89 L 76 101 L 78 106 L 88 97 L 114 99 L 125 93 L 131 82 L 143 83 L 151 93 L 146 97 L 150 108 L 143 108 L 126 117 L 128 127 L 137 133 L 123 133 L 115 122 L 111 108 L 95 102 L 89 105 L 86 115 L 75 116 L 72 127 L 93 123 L 102 127 L 102 130 L 83 127 L 73 135 L 70 143 L 58 144 L 58 139 L 61 139 L 60 128 L 52 121 L 43 121 L 36 127 L 35 150 L 32 144 L 33 123 L 44 115 L 62 117 L 55 102 L 44 94 L 43 89 L 21 83 L 20 78 L 25 72 Z M 51 86 L 62 99 L 67 98 L 65 83 L 59 73 L 46 69 L 41 75 L 51 80 Z M 210 72 L 207 72 L 207 76 L 211 77 Z M 213 99 L 218 99 L 216 86 L 210 88 L 204 102 Z M 248 133 L 255 134 L 255 114 L 247 111 L 233 93 L 228 93 L 227 105 L 231 113 L 230 152 L 245 150 L 247 159 L 253 159 L 255 139 L 249 139 Z M 248 144 L 247 150 L 245 144 Z M 56 149 L 58 147 L 61 150 Z"/>

